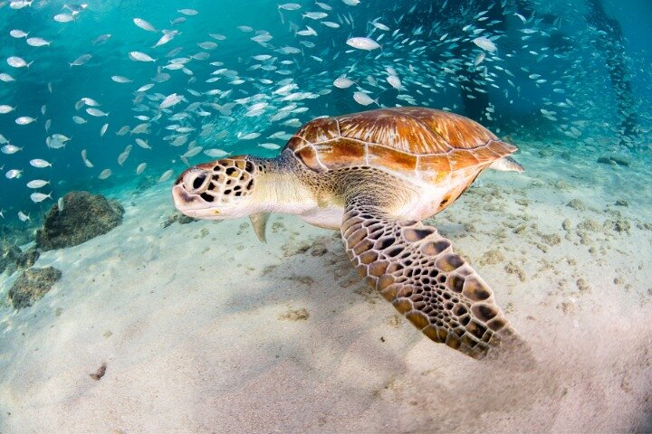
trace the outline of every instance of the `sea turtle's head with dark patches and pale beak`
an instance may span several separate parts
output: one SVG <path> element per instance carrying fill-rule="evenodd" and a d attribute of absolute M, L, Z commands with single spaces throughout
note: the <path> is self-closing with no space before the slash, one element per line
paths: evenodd
<path fill-rule="evenodd" d="M 177 178 L 177 210 L 197 219 L 221 220 L 257 212 L 252 193 L 263 163 L 254 156 L 230 156 L 190 167 Z"/>

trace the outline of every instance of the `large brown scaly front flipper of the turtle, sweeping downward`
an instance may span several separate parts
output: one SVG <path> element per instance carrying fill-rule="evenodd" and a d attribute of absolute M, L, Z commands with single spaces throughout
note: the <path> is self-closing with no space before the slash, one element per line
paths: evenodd
<path fill-rule="evenodd" d="M 392 220 L 373 203 L 354 199 L 341 234 L 369 286 L 433 341 L 476 359 L 516 344 L 529 358 L 491 288 L 435 228 Z"/>

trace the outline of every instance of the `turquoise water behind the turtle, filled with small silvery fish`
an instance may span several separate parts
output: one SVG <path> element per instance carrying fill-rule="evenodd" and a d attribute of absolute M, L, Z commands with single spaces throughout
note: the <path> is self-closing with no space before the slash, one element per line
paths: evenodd
<path fill-rule="evenodd" d="M 356 102 L 356 91 L 382 107 L 450 109 L 499 135 L 570 137 L 573 146 L 599 145 L 602 139 L 618 143 L 618 117 L 626 116 L 618 114 L 607 54 L 581 1 L 196 1 L 158 2 L 156 9 L 140 1 L 22 5 L 3 2 L 0 8 L 1 57 L 33 62 L 14 68 L 3 60 L 0 66 L 13 79 L 0 81 L 0 104 L 15 108 L 0 115 L 0 134 L 21 148 L 0 155 L 3 174 L 21 171 L 14 179 L 0 177 L 0 207 L 2 223 L 18 227 L 37 223 L 71 190 L 101 191 L 138 178 L 158 181 L 168 170 L 177 174 L 186 163 L 211 159 L 204 153 L 208 149 L 219 149 L 214 156 L 273 156 L 278 152 L 273 148 L 311 118 L 376 107 L 376 102 L 367 107 Z M 488 5 L 493 6 L 487 10 Z M 621 23 L 620 54 L 632 90 L 628 110 L 638 114 L 636 136 L 617 152 L 647 155 L 652 54 L 646 43 L 649 24 L 641 17 L 650 13 L 650 5 L 623 7 L 605 0 L 604 6 Z M 154 31 L 137 26 L 135 18 Z M 13 37 L 15 30 L 28 34 Z M 173 37 L 152 48 L 168 32 Z M 355 36 L 378 41 L 380 48 L 351 48 L 346 42 Z M 496 51 L 475 45 L 477 37 L 494 41 Z M 32 46 L 28 38 L 47 44 Z M 155 61 L 130 60 L 129 52 Z M 90 60 L 70 66 L 82 55 Z M 355 82 L 339 89 L 333 80 L 340 75 Z M 116 82 L 115 76 L 129 82 Z M 388 83 L 389 76 L 398 78 L 399 89 Z M 466 109 L 464 89 L 476 101 L 488 97 L 488 103 Z M 182 99 L 160 109 L 172 94 Z M 83 98 L 100 104 L 94 109 L 101 116 L 91 116 L 86 111 L 91 106 L 83 102 L 76 107 Z M 18 125 L 19 117 L 35 120 Z M 70 141 L 48 147 L 46 140 L 55 134 Z M 137 138 L 151 148 L 139 146 Z M 120 165 L 127 146 L 130 152 Z M 195 153 L 187 161 L 180 158 Z M 52 167 L 33 167 L 34 158 Z M 142 164 L 147 166 L 137 175 Z M 99 179 L 106 169 L 111 175 Z M 50 184 L 27 188 L 34 179 Z M 34 191 L 52 199 L 34 203 Z M 31 221 L 21 222 L 18 212 Z"/>

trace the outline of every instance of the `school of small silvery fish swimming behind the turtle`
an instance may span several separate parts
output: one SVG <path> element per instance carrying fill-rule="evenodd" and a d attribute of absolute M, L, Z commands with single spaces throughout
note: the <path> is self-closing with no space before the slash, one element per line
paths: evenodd
<path fill-rule="evenodd" d="M 6 42 L 0 167 L 2 182 L 12 187 L 0 193 L 0 215 L 29 222 L 30 211 L 46 209 L 40 203 L 49 207 L 67 193 L 71 181 L 57 176 L 70 173 L 98 188 L 110 179 L 145 175 L 163 183 L 191 160 L 256 147 L 273 155 L 319 116 L 412 105 L 464 113 L 461 90 L 470 99 L 489 96 L 483 120 L 499 135 L 531 128 L 595 145 L 588 132 L 594 119 L 610 118 L 606 111 L 614 102 L 594 91 L 596 82 L 608 80 L 590 73 L 602 60 L 580 54 L 594 44 L 596 32 L 585 26 L 572 41 L 564 33 L 564 22 L 581 16 L 573 2 L 553 20 L 543 18 L 549 10 L 525 16 L 506 0 L 461 2 L 455 14 L 442 14 L 449 2 L 391 2 L 379 11 L 371 0 L 264 1 L 258 9 L 273 16 L 273 31 L 234 17 L 210 19 L 203 25 L 218 24 L 197 40 L 188 40 L 188 33 L 197 35 L 191 30 L 202 17 L 199 6 L 179 7 L 167 21 L 148 8 L 138 16 L 116 11 L 138 43 L 118 44 L 117 33 L 88 34 L 69 52 L 58 41 L 60 32 L 92 25 L 98 5 L 45 9 L 47 2 L 0 1 L 6 25 L 22 23 L 12 14 L 20 18 L 41 7 L 49 13 L 47 26 L 0 34 Z M 498 5 L 501 19 L 492 11 Z M 118 61 L 127 66 L 114 67 Z M 632 63 L 635 71 L 643 68 Z M 110 91 L 76 93 L 59 80 L 58 71 L 85 69 L 92 70 L 85 80 Z M 20 90 L 30 86 L 39 91 L 27 104 Z M 53 107 L 53 100 L 65 103 Z M 647 125 L 649 107 L 641 112 Z M 527 117 L 513 116 L 523 111 Z M 601 127 L 609 134 L 617 126 Z M 58 167 L 67 172 L 55 172 Z M 4 205 L 9 194 L 18 199 Z"/>

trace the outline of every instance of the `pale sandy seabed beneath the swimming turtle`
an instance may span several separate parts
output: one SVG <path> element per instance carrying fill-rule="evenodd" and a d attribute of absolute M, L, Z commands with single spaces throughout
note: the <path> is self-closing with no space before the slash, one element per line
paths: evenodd
<path fill-rule="evenodd" d="M 282 216 L 267 244 L 245 220 L 163 229 L 161 187 L 122 198 L 109 234 L 44 253 L 36 266 L 62 279 L 34 307 L 0 311 L 0 432 L 652 429 L 645 166 L 523 148 L 525 174 L 485 172 L 433 222 L 492 285 L 537 369 L 433 344 L 360 281 L 339 233 Z M 301 309 L 307 319 L 283 317 Z"/>

